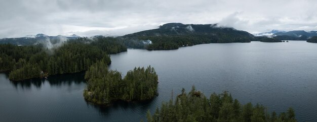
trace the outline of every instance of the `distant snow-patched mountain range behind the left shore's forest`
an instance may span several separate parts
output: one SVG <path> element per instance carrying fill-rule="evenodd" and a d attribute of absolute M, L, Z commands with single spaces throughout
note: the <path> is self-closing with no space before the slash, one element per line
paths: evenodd
<path fill-rule="evenodd" d="M 50 41 L 52 44 L 59 43 L 62 41 L 66 41 L 67 39 L 76 39 L 80 38 L 78 35 L 69 35 L 69 36 L 48 36 L 45 34 L 36 34 L 36 35 L 27 35 L 19 38 L 3 38 L 0 39 L 0 44 L 3 43 L 12 43 L 16 45 L 34 45 L 38 43 L 47 43 Z"/>

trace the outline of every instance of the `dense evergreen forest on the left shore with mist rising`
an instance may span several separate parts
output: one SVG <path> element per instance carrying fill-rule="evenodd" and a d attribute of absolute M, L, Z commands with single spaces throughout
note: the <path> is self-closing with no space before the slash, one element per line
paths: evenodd
<path fill-rule="evenodd" d="M 108 54 L 122 51 L 127 47 L 111 37 L 78 38 L 51 49 L 43 44 L 0 44 L 0 71 L 10 72 L 12 81 L 76 73 L 86 71 L 98 60 L 109 65 Z"/>

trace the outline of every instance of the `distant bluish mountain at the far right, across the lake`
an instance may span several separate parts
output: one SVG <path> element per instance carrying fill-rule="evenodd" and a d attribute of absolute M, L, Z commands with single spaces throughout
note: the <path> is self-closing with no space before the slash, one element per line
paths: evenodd
<path fill-rule="evenodd" d="M 317 31 L 289 31 L 289 32 L 278 32 L 273 34 L 273 36 L 280 36 L 278 38 L 289 40 L 288 38 L 292 38 L 294 40 L 307 40 L 313 36 L 317 36 Z"/>

